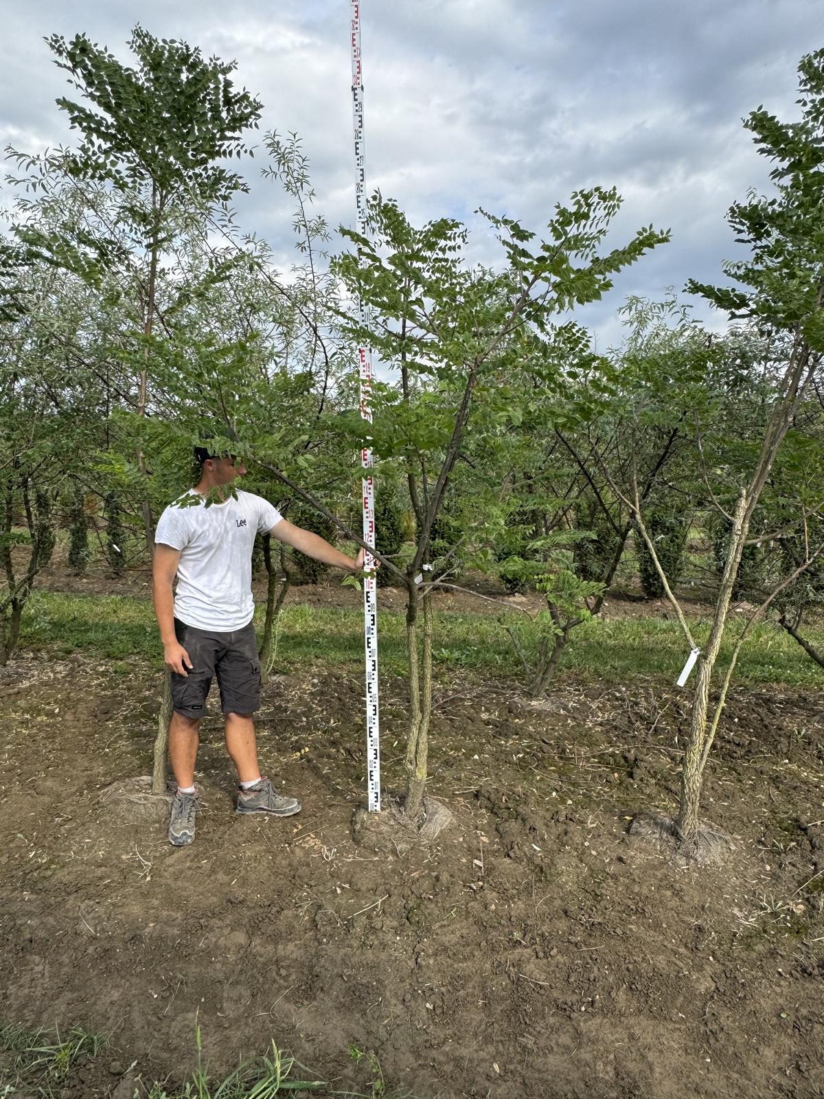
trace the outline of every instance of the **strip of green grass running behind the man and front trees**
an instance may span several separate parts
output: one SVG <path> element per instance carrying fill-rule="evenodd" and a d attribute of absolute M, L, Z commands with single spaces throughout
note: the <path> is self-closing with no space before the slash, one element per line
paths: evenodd
<path fill-rule="evenodd" d="M 434 640 L 436 665 L 516 678 L 520 664 L 500 619 L 497 611 L 438 612 Z M 258 628 L 263 624 L 260 613 L 256 624 Z M 527 651 L 534 645 L 534 628 L 525 617 L 508 614 L 506 624 L 519 630 Z M 706 625 L 695 620 L 690 625 L 700 643 L 706 636 Z M 733 614 L 722 647 L 722 666 L 741 628 Z M 403 674 L 403 614 L 381 612 L 379 636 L 382 670 Z M 810 630 L 809 637 L 813 645 L 824 648 L 824 630 Z M 21 645 L 55 654 L 88 652 L 119 660 L 134 656 L 158 664 L 160 660 L 152 604 L 129 596 L 35 592 L 26 608 Z M 560 675 L 608 682 L 637 676 L 675 678 L 686 656 L 686 643 L 673 621 L 643 617 L 593 620 L 572 631 Z M 352 667 L 363 664 L 360 611 L 287 603 L 278 633 L 277 666 L 288 670 L 319 662 Z M 738 660 L 736 680 L 820 688 L 824 685 L 824 670 L 782 630 L 768 622 L 751 632 Z"/>

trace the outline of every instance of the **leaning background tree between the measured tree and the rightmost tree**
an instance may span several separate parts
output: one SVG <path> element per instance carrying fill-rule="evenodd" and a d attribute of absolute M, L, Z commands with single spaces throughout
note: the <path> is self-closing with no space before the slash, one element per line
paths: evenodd
<path fill-rule="evenodd" d="M 520 608 L 522 621 L 533 620 L 530 629 L 519 629 L 517 619 L 508 628 L 533 695 L 548 689 L 571 631 L 600 611 L 632 530 L 632 512 L 601 464 L 619 480 L 631 464 L 639 467 L 643 499 L 671 477 L 676 463 L 683 477 L 684 413 L 671 378 L 694 374 L 694 325 L 669 301 L 660 308 L 635 302 L 630 311 L 652 331 L 638 338 L 636 323 L 636 337 L 621 353 L 595 354 L 579 325 L 555 331 L 544 351 L 564 384 L 550 390 L 524 371 L 523 420 L 505 437 L 512 510 L 495 548 L 497 573 L 546 599 L 537 613 Z M 661 320 L 672 313 L 675 332 Z M 643 431 L 634 430 L 635 417 Z"/>

